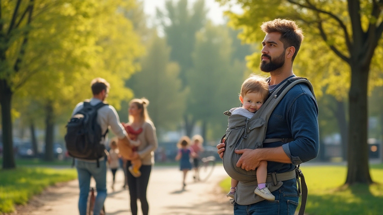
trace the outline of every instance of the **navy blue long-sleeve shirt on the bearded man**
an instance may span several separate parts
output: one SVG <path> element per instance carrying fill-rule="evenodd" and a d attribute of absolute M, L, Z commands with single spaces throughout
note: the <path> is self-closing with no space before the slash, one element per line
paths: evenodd
<path fill-rule="evenodd" d="M 269 138 L 293 138 L 294 141 L 263 144 L 264 148 L 282 146 L 292 162 L 285 164 L 269 161 L 268 173 L 291 171 L 295 165 L 318 156 L 318 105 L 306 84 L 293 86 L 275 107 L 267 124 L 266 139 Z"/>

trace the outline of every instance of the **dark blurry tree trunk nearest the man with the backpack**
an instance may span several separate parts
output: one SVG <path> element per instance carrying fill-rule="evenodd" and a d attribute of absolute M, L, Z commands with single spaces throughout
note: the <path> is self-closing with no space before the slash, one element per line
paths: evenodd
<path fill-rule="evenodd" d="M 46 106 L 46 130 L 45 130 L 45 156 L 46 161 L 53 161 L 53 136 L 54 136 L 54 123 L 53 123 L 53 107 L 51 103 Z"/>

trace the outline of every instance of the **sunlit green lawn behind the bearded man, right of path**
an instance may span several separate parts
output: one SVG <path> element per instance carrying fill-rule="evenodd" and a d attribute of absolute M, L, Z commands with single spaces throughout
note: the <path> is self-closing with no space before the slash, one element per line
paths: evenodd
<path fill-rule="evenodd" d="M 381 215 L 383 214 L 383 165 L 371 165 L 376 182 L 370 186 L 344 186 L 345 166 L 301 167 L 308 186 L 307 215 Z M 220 183 L 226 192 L 230 178 Z M 301 200 L 301 199 L 300 199 Z M 297 211 L 299 208 L 297 209 Z"/>

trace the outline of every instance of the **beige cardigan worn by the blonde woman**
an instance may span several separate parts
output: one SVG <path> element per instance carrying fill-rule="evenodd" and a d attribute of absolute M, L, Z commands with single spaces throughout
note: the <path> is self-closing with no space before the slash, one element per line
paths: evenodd
<path fill-rule="evenodd" d="M 141 144 L 137 147 L 137 153 L 141 158 L 142 165 L 154 164 L 154 151 L 158 147 L 157 135 L 153 122 L 146 121 L 142 125 L 142 132 L 137 136 Z"/>

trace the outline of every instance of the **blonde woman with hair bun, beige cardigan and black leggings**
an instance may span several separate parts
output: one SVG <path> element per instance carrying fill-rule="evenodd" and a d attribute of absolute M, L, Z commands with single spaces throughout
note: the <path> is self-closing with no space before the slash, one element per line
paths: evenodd
<path fill-rule="evenodd" d="M 155 127 L 147 112 L 149 101 L 145 98 L 133 99 L 129 102 L 129 122 L 124 124 L 131 140 L 138 140 L 140 144 L 136 151 L 128 156 L 127 168 L 132 165 L 131 161 L 141 160 L 139 177 L 133 176 L 131 171 L 127 171 L 128 187 L 130 195 L 130 207 L 133 215 L 137 215 L 137 199 L 141 202 L 142 214 L 149 213 L 149 204 L 146 199 L 146 190 L 149 176 L 154 165 L 154 151 L 158 147 Z M 120 149 L 121 150 L 121 149 Z M 124 156 L 124 155 L 123 155 Z"/>

